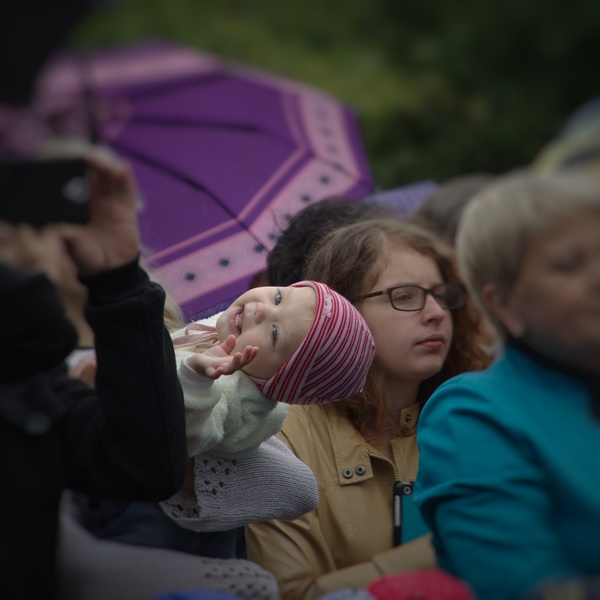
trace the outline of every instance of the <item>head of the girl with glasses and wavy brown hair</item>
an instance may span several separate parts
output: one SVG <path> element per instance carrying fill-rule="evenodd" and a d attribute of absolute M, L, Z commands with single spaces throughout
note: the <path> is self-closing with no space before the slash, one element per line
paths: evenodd
<path fill-rule="evenodd" d="M 375 339 L 363 393 L 339 404 L 365 435 L 390 427 L 391 396 L 398 389 L 414 386 L 424 402 L 449 377 L 487 365 L 453 250 L 426 229 L 397 217 L 338 228 L 312 254 L 306 276 L 354 301 Z M 410 288 L 385 293 L 395 286 Z M 432 291 L 419 293 L 415 286 Z M 405 308 L 404 302 L 413 302 L 407 294 L 420 302 Z"/>

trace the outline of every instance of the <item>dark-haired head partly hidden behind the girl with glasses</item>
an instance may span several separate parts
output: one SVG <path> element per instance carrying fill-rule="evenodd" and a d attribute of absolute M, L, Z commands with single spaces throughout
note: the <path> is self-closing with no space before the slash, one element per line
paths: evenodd
<path fill-rule="evenodd" d="M 387 214 L 344 197 L 325 198 L 307 206 L 290 220 L 267 257 L 269 285 L 291 285 L 304 279 L 306 257 L 331 230 L 369 217 Z"/>

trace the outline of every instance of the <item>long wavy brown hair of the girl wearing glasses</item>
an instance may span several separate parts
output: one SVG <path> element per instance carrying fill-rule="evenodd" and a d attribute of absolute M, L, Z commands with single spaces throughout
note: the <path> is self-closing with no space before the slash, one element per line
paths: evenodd
<path fill-rule="evenodd" d="M 370 219 L 331 232 L 309 257 L 304 276 L 326 283 L 351 300 L 371 291 L 379 277 L 379 259 L 390 245 L 416 250 L 435 262 L 444 281 L 462 283 L 452 248 L 426 229 L 397 218 Z M 452 319 L 454 335 L 448 356 L 441 371 L 422 382 L 421 404 L 450 377 L 483 369 L 489 364 L 489 356 L 477 343 L 480 313 L 470 300 L 464 307 L 452 311 Z M 335 406 L 366 438 L 395 429 L 377 354 L 362 393 Z"/>

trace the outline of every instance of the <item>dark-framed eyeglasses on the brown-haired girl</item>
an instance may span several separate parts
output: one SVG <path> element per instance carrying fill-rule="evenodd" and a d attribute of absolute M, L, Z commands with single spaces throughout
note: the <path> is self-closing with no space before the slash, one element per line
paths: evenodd
<path fill-rule="evenodd" d="M 456 310 L 465 304 L 465 288 L 460 283 L 439 283 L 432 288 L 422 288 L 418 285 L 397 285 L 387 290 L 358 296 L 352 302 L 387 295 L 392 308 L 396 310 L 421 310 L 425 306 L 427 294 L 431 294 L 445 310 Z"/>

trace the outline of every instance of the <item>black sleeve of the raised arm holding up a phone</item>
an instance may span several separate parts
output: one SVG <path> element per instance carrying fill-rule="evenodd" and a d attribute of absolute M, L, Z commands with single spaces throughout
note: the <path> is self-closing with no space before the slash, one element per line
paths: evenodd
<path fill-rule="evenodd" d="M 82 279 L 86 318 L 95 334 L 96 390 L 68 380 L 76 397 L 65 423 L 69 487 L 90 495 L 162 500 L 187 472 L 183 394 L 165 293 L 137 261 Z"/>

